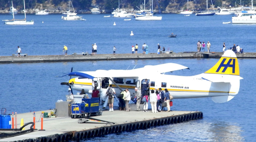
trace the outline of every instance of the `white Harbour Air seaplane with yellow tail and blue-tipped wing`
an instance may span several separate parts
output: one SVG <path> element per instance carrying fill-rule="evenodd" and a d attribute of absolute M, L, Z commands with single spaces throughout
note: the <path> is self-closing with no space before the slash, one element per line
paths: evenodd
<path fill-rule="evenodd" d="M 227 50 L 220 60 L 204 73 L 195 76 L 167 74 L 170 71 L 183 69 L 189 68 L 180 64 L 166 63 L 146 65 L 143 68 L 132 70 L 71 71 L 67 74 L 70 80 L 62 82 L 61 85 L 68 85 L 73 90 L 88 94 L 91 94 L 96 86 L 100 91 L 100 98 L 103 99 L 111 84 L 116 90 L 116 96 L 128 88 L 134 97 L 134 88 L 141 90 L 142 83 L 147 78 L 148 89 L 161 87 L 164 90 L 166 88 L 172 94 L 173 99 L 211 97 L 216 103 L 224 103 L 236 96 L 240 87 L 240 79 L 243 79 L 239 74 L 236 54 L 232 50 Z M 71 78 L 71 76 L 76 77 Z"/>

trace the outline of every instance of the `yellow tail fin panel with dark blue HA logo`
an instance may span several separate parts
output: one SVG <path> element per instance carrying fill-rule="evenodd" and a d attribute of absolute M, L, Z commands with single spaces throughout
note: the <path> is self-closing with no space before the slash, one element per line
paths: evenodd
<path fill-rule="evenodd" d="M 204 73 L 239 75 L 237 58 L 221 57 L 217 64 Z"/>

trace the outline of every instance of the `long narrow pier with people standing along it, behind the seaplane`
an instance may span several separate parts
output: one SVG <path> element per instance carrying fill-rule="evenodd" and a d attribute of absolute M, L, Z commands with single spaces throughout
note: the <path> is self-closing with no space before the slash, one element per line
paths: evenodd
<path fill-rule="evenodd" d="M 169 53 L 169 52 L 167 52 Z M 0 63 L 33 63 L 33 62 L 72 62 L 72 61 L 99 61 L 99 60 L 139 60 L 139 59 L 169 59 L 169 58 L 220 58 L 223 52 L 197 53 L 197 52 L 182 52 L 182 53 L 149 53 L 149 54 L 97 54 L 94 56 L 81 53 L 73 53 L 73 55 L 44 55 L 44 56 L 26 56 L 17 57 L 0 56 Z M 237 58 L 256 58 L 256 53 L 236 54 Z"/>

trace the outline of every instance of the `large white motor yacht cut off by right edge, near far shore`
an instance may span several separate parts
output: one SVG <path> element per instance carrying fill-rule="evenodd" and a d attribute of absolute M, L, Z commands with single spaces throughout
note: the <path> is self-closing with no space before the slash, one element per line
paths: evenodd
<path fill-rule="evenodd" d="M 237 16 L 232 17 L 233 24 L 256 24 L 256 12 L 249 11 L 241 11 Z"/>

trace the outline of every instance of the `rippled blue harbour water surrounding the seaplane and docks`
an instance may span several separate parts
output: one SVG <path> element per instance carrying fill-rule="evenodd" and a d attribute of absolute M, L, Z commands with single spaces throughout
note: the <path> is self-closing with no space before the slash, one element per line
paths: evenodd
<path fill-rule="evenodd" d="M 18 15 L 17 18 L 22 15 Z M 252 25 L 222 24 L 231 21 L 231 16 L 185 17 L 179 14 L 164 14 L 162 21 L 124 21 L 116 18 L 103 18 L 104 15 L 84 14 L 86 21 L 62 21 L 61 15 L 36 16 L 33 26 L 0 25 L 0 56 L 11 56 L 19 45 L 28 55 L 61 55 L 63 45 L 68 52 L 90 51 L 91 44 L 97 43 L 98 53 L 129 53 L 131 45 L 149 46 L 155 52 L 156 44 L 170 47 L 174 52 L 196 51 L 196 42 L 210 41 L 212 51 L 222 51 L 222 43 L 232 46 L 240 44 L 245 52 L 255 52 L 255 34 Z M 20 19 L 19 18 L 19 19 Z M 0 19 L 11 19 L 10 15 L 0 15 Z M 42 23 L 44 21 L 44 23 Z M 114 21 L 116 26 L 113 26 Z M 130 22 L 130 23 L 128 23 Z M 134 36 L 130 36 L 133 31 Z M 170 33 L 177 38 L 167 37 Z M 139 46 L 141 47 L 141 46 Z M 152 48 L 151 48 L 152 47 Z M 249 47 L 249 48 L 246 48 Z M 129 50 L 128 50 L 129 49 Z M 139 50 L 139 53 L 142 53 Z M 55 108 L 57 100 L 65 100 L 68 87 L 61 82 L 69 77 L 58 78 L 73 71 L 95 71 L 98 69 L 127 69 L 145 65 L 177 63 L 190 70 L 174 71 L 175 75 L 191 76 L 210 69 L 219 59 L 161 59 L 161 60 L 122 60 L 87 61 L 59 63 L 0 64 L 2 79 L 0 108 L 7 113 L 33 112 Z M 159 126 L 148 130 L 138 130 L 121 134 L 111 134 L 89 141 L 255 141 L 255 59 L 238 59 L 240 67 L 240 90 L 234 99 L 226 103 L 214 103 L 210 98 L 173 100 L 172 110 L 202 111 L 204 118 L 185 123 Z M 110 66 L 111 65 L 111 66 Z M 149 74 L 150 76 L 150 74 Z M 202 86 L 203 87 L 203 86 Z M 103 113 L 104 115 L 104 113 Z M 143 137 L 141 137 L 143 136 Z M 131 139 L 132 137 L 132 139 Z"/>

